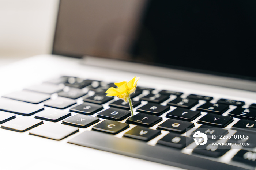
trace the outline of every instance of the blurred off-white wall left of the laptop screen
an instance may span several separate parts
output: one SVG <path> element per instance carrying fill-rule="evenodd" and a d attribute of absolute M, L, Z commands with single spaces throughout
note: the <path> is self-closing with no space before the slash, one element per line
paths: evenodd
<path fill-rule="evenodd" d="M 0 65 L 50 54 L 59 0 L 0 0 Z"/>

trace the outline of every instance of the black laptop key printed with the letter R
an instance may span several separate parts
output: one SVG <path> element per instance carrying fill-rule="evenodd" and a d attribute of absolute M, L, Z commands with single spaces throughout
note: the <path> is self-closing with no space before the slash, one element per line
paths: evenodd
<path fill-rule="evenodd" d="M 156 103 L 147 103 L 146 105 L 136 109 L 137 112 L 147 113 L 151 115 L 162 115 L 170 109 L 170 106 L 162 106 Z"/>

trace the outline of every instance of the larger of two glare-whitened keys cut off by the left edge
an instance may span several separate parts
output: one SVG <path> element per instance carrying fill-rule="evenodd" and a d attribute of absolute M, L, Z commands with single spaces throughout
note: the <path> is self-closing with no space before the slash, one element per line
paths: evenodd
<path fill-rule="evenodd" d="M 44 109 L 43 106 L 25 103 L 22 101 L 0 98 L 0 110 L 16 113 L 18 115 L 30 116 Z"/>

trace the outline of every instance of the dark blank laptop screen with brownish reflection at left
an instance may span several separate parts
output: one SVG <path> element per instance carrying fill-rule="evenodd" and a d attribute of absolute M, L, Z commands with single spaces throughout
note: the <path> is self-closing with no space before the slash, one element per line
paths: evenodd
<path fill-rule="evenodd" d="M 61 0 L 53 54 L 256 80 L 255 0 Z"/>

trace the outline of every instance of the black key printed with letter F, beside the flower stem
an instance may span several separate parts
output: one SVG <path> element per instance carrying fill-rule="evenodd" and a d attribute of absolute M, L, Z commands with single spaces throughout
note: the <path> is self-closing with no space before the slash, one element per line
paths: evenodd
<path fill-rule="evenodd" d="M 138 114 L 126 119 L 125 123 L 136 124 L 136 125 L 141 125 L 141 126 L 145 126 L 145 127 L 151 127 L 151 126 L 154 126 L 155 124 L 159 123 L 162 120 L 163 120 L 162 117 L 148 115 L 145 113 L 138 113 Z"/>

